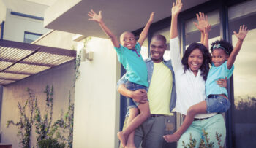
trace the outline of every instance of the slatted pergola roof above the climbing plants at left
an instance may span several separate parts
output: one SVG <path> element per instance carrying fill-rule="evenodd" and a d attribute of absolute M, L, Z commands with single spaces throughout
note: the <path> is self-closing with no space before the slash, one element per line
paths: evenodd
<path fill-rule="evenodd" d="M 8 85 L 75 58 L 75 50 L 1 39 L 0 85 Z"/>

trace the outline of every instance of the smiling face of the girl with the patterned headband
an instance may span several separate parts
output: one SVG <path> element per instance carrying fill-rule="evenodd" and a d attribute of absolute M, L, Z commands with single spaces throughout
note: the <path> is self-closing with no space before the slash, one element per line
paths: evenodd
<path fill-rule="evenodd" d="M 228 55 L 227 53 L 222 50 L 221 48 L 215 49 L 212 51 L 212 62 L 214 63 L 214 66 L 219 67 L 227 61 Z"/>

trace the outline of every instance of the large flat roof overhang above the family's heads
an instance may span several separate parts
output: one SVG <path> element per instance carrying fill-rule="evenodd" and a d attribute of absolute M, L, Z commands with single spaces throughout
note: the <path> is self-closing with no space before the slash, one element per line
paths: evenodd
<path fill-rule="evenodd" d="M 174 0 L 173 0 L 174 1 Z M 67 31 L 84 36 L 106 38 L 99 25 L 88 20 L 90 9 L 102 10 L 105 24 L 117 36 L 123 31 L 143 28 L 151 12 L 155 12 L 154 22 L 171 15 L 170 0 L 58 0 L 45 11 L 45 28 Z M 183 10 L 202 4 L 208 0 L 183 0 Z"/>

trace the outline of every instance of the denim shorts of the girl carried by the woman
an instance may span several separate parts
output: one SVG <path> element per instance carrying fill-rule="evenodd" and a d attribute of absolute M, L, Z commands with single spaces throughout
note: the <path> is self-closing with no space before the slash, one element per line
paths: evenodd
<path fill-rule="evenodd" d="M 208 98 L 206 98 L 206 105 L 207 113 L 227 112 L 227 110 L 230 108 L 230 101 L 220 95 L 209 95 Z"/>

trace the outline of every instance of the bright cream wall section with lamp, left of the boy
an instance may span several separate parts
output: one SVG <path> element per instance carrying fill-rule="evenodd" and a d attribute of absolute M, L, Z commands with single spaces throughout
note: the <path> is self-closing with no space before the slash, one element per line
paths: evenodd
<path fill-rule="evenodd" d="M 80 42 L 78 49 L 82 47 Z M 92 38 L 87 49 L 86 52 L 94 52 L 94 59 L 81 62 L 75 85 L 73 146 L 118 147 L 120 101 L 116 81 L 120 64 L 108 39 Z"/>

